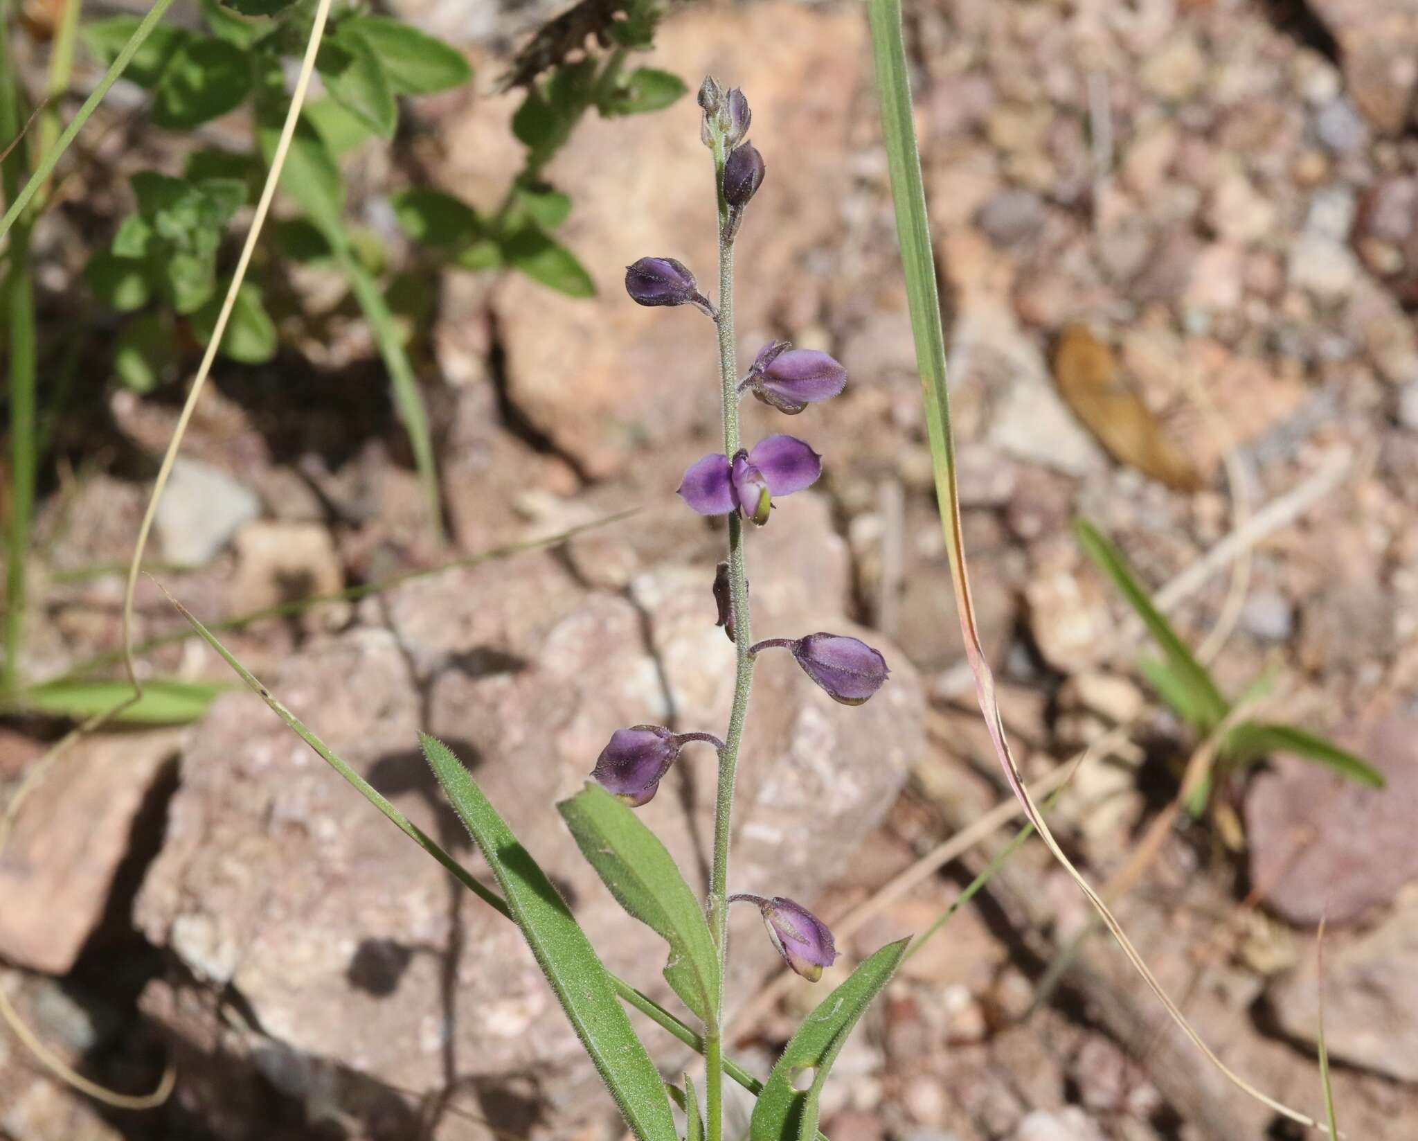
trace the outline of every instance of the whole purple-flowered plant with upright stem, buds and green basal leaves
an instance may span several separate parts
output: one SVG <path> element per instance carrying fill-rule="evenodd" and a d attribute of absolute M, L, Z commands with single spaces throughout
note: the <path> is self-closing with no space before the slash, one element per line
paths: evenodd
<path fill-rule="evenodd" d="M 739 376 L 733 331 L 735 240 L 749 202 L 763 184 L 766 167 L 763 156 L 746 138 L 750 112 L 742 91 L 725 91 L 715 79 L 705 79 L 699 106 L 703 109 L 700 133 L 713 155 L 719 207 L 718 298 L 705 297 L 693 274 L 672 257 L 641 258 L 625 271 L 625 288 L 641 305 L 691 305 L 708 315 L 718 332 L 723 451 L 691 464 L 679 495 L 700 515 L 723 515 L 727 522 L 727 558 L 719 563 L 713 582 L 706 583 L 706 593 L 713 596 L 718 624 L 735 646 L 729 727 L 723 738 L 709 732 L 675 732 L 662 725 L 617 729 L 596 761 L 586 788 L 557 809 L 581 854 L 615 900 L 669 945 L 665 981 L 698 1019 L 700 1030 L 696 1033 L 654 999 L 605 971 L 552 881 L 518 844 L 506 822 L 445 745 L 431 737 L 423 738 L 434 773 L 486 859 L 501 897 L 454 863 L 357 776 L 346 772 L 347 766 L 340 768 L 343 762 L 328 751 L 320 755 L 464 884 L 522 928 L 537 965 L 638 1141 L 679 1141 L 671 1101 L 685 1113 L 685 1141 L 725 1141 L 725 1074 L 756 1096 L 749 1123 L 752 1141 L 815 1141 L 821 1138 L 818 1100 L 827 1074 L 852 1027 L 899 965 L 908 941 L 889 944 L 864 959 L 803 1022 L 767 1081 L 760 1083 L 727 1059 L 723 1053 L 723 991 L 729 904 L 756 907 L 774 948 L 804 978 L 821 979 L 824 969 L 837 959 L 832 932 L 800 903 L 781 895 L 730 894 L 735 771 L 759 654 L 787 650 L 818 687 L 847 705 L 871 698 L 889 671 L 881 653 L 845 634 L 810 633 L 753 641 L 746 524 L 767 524 L 777 500 L 801 491 L 821 475 L 822 460 L 795 436 L 767 436 L 746 447 L 739 434 L 739 402 L 752 393 L 770 407 L 795 416 L 808 404 L 838 395 L 847 383 L 847 370 L 824 352 L 793 349 L 774 341 L 757 353 L 747 375 Z M 207 637 L 221 651 L 220 644 Z M 242 677 L 259 688 L 248 674 Z M 261 693 L 269 700 L 265 690 Z M 288 712 L 275 708 L 308 741 L 318 744 Z M 712 745 L 719 758 L 713 860 L 708 898 L 702 901 L 665 846 L 635 813 L 655 796 L 659 782 L 689 745 Z M 685 1074 L 682 1090 L 661 1079 L 621 1002 L 703 1054 L 706 1097 L 702 1115 L 689 1076 Z M 811 1073 L 807 1088 L 801 1088 L 804 1071 Z"/>

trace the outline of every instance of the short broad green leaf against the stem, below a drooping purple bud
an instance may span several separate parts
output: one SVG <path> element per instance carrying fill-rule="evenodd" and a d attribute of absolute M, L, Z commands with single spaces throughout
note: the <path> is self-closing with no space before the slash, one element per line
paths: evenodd
<path fill-rule="evenodd" d="M 685 1006 L 713 1025 L 719 959 L 709 924 L 659 837 L 600 785 L 587 785 L 557 809 L 615 901 L 669 944 L 665 981 Z"/>

